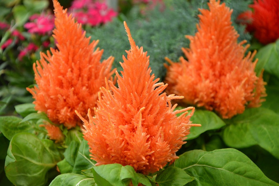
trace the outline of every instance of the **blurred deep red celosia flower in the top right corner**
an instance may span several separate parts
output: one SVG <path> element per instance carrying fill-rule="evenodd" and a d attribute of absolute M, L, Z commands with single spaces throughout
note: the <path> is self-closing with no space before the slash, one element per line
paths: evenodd
<path fill-rule="evenodd" d="M 254 31 L 255 38 L 262 44 L 275 42 L 279 38 L 279 1 L 254 0 L 250 7 L 253 8 L 253 12 L 240 14 L 239 20 L 244 21 L 248 31 Z"/>

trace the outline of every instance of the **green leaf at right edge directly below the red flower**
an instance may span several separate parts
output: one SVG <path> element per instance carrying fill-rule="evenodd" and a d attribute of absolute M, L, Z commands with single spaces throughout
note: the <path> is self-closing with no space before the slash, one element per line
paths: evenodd
<path fill-rule="evenodd" d="M 279 77 L 279 40 L 262 47 L 256 58 L 259 59 L 255 67 L 257 75 L 260 74 L 262 68 L 264 70 Z"/>

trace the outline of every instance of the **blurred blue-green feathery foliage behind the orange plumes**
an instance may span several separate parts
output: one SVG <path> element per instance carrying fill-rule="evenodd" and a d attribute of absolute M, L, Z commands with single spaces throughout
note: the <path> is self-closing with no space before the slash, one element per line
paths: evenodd
<path fill-rule="evenodd" d="M 250 1 L 224 2 L 234 10 L 232 22 L 240 35 L 239 41 L 249 41 L 251 35 L 244 31 L 244 26 L 236 24 L 235 20 L 239 13 L 247 10 Z M 178 61 L 178 58 L 183 56 L 181 48 L 189 47 L 189 40 L 185 35 L 194 35 L 197 31 L 196 24 L 200 14 L 198 8 L 208 8 L 207 1 L 169 0 L 167 5 L 164 11 L 158 7 L 146 11 L 146 16 L 140 19 L 139 9 L 134 8 L 128 15 L 120 15 L 111 23 L 87 29 L 87 35 L 93 40 L 99 40 L 98 47 L 104 49 L 103 58 L 114 56 L 113 66 L 121 71 L 119 62 L 123 62 L 122 55 L 126 56 L 125 50 L 130 49 L 123 26 L 123 21 L 126 21 L 136 44 L 148 51 L 152 73 L 162 81 L 166 73 L 164 58 L 167 56 Z"/>

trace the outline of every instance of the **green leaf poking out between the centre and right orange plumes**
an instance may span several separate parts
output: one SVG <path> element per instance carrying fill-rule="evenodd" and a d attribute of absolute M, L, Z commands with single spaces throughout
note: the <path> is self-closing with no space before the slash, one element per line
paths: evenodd
<path fill-rule="evenodd" d="M 226 125 L 220 117 L 208 110 L 195 110 L 191 121 L 195 124 L 201 124 L 201 127 L 191 127 L 187 140 L 195 139 L 207 130 L 219 129 Z"/>

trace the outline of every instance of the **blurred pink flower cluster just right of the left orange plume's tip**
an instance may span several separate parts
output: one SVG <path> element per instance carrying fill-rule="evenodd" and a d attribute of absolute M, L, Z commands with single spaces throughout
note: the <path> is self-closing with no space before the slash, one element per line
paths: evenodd
<path fill-rule="evenodd" d="M 92 0 L 74 0 L 69 11 L 77 22 L 91 26 L 105 24 L 117 16 L 117 12 L 108 8 L 105 3 L 94 3 Z"/>

